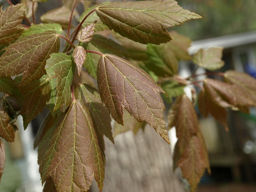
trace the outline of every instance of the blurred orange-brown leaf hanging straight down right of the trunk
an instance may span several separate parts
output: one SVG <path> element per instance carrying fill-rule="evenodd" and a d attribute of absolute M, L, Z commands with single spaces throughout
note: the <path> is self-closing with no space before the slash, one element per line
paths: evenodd
<path fill-rule="evenodd" d="M 182 175 L 194 191 L 206 168 L 210 173 L 210 165 L 198 116 L 186 95 L 177 98 L 168 114 L 168 122 L 170 128 L 176 127 L 178 138 L 174 149 L 174 169 L 180 166 Z"/>

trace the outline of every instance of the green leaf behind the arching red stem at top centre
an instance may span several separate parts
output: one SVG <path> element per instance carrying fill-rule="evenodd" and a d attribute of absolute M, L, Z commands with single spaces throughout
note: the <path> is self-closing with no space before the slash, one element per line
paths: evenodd
<path fill-rule="evenodd" d="M 94 9 L 96 6 L 93 6 L 91 8 L 88 8 L 79 18 L 79 22 L 81 22 L 84 17 L 92 10 Z M 86 18 L 86 20 L 83 22 L 82 26 L 86 27 L 88 25 L 90 25 L 92 22 L 97 21 L 94 27 L 95 31 L 103 31 L 105 29 L 108 29 L 108 27 L 106 25 L 104 25 L 102 23 L 102 21 L 100 20 L 100 18 L 98 17 L 98 15 L 96 14 L 96 12 L 92 12 L 88 18 Z"/>

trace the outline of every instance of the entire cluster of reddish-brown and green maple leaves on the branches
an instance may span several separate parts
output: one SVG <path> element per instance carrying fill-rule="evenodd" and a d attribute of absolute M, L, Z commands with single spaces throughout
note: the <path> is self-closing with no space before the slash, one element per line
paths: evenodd
<path fill-rule="evenodd" d="M 86 10 L 70 35 L 79 1 L 63 0 L 63 6 L 41 16 L 44 24 L 35 24 L 37 2 L 44 1 L 25 0 L 26 4 L 1 8 L 0 137 L 13 142 L 18 115 L 26 129 L 48 108 L 34 142 L 42 183 L 46 182 L 44 191 L 87 191 L 93 179 L 102 190 L 103 136 L 114 143 L 110 115 L 116 122 L 114 135 L 122 132 L 117 124 L 123 126 L 124 120 L 130 127 L 123 129 L 134 132 L 148 123 L 169 143 L 163 93 L 168 102 L 177 97 L 168 112 L 168 129 L 175 126 L 178 137 L 174 167 L 182 169 L 194 191 L 210 168 L 194 100 L 185 95 L 184 87 L 202 82 L 194 81 L 194 76 L 178 76 L 178 61 L 193 60 L 200 67 L 216 70 L 224 65 L 222 49 L 200 50 L 192 57 L 187 52 L 191 41 L 166 28 L 201 17 L 174 0 L 92 7 L 90 1 L 83 2 Z M 34 24 L 22 23 L 30 25 L 30 17 Z M 107 28 L 116 32 L 112 36 L 116 41 L 100 35 Z M 60 38 L 66 40 L 61 52 Z M 255 80 L 246 74 L 229 71 L 222 76 L 225 82 L 204 80 L 198 104 L 205 117 L 211 114 L 227 127 L 226 108 L 249 112 L 256 105 L 256 88 Z M 2 176 L 2 140 L 0 147 Z"/>

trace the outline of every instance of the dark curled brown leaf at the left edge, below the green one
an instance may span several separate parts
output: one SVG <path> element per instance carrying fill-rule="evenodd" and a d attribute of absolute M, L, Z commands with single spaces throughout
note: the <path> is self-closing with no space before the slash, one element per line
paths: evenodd
<path fill-rule="evenodd" d="M 17 130 L 14 123 L 21 108 L 18 100 L 11 96 L 0 98 L 0 137 L 8 142 L 14 142 L 15 131 Z"/>

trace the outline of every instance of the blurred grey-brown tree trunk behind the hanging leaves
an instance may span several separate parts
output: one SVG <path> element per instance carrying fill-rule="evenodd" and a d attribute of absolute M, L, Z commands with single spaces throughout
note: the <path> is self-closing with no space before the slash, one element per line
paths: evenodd
<path fill-rule="evenodd" d="M 184 192 L 172 171 L 170 146 L 154 131 L 146 127 L 134 135 L 120 134 L 113 145 L 106 144 L 106 168 L 102 192 Z M 91 191 L 97 192 L 93 183 Z"/>

